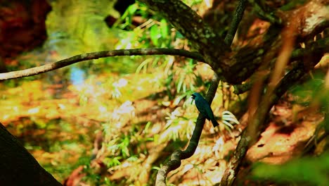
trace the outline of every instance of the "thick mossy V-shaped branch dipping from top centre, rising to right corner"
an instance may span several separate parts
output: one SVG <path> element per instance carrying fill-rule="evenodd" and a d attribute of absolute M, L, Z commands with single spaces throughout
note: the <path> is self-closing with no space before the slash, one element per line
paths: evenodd
<path fill-rule="evenodd" d="M 297 39 L 307 39 L 328 27 L 328 1 L 314 0 L 294 11 L 273 12 L 273 16 L 263 13 L 263 17 L 273 20 L 269 32 L 257 46 L 244 46 L 231 51 L 229 44 L 219 37 L 212 27 L 204 23 L 190 7 L 182 1 L 140 0 L 157 13 L 161 13 L 174 27 L 188 39 L 193 48 L 205 58 L 205 63 L 219 75 L 219 78 L 231 84 L 240 84 L 247 80 L 259 68 L 264 56 L 276 54 L 282 44 L 280 31 L 288 25 L 304 28 L 297 30 Z M 242 10 L 242 9 L 241 9 Z M 316 10 L 316 11 L 315 11 Z M 174 15 L 174 16 L 173 16 Z M 293 19 L 290 19 L 293 18 Z M 302 42 L 302 41 L 301 41 Z"/>

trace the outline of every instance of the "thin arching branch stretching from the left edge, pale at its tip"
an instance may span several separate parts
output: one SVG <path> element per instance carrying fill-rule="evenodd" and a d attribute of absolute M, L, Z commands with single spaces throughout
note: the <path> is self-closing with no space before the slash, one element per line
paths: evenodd
<path fill-rule="evenodd" d="M 44 66 L 28 68 L 25 70 L 17 70 L 9 73 L 0 73 L 0 80 L 11 80 L 18 77 L 27 77 L 31 75 L 46 73 L 51 70 L 56 70 L 58 68 L 63 68 L 65 66 L 70 66 L 73 63 L 77 63 L 80 61 L 88 61 L 91 59 L 105 58 L 112 56 L 144 56 L 144 55 L 174 55 L 174 56 L 184 56 L 187 58 L 193 58 L 198 61 L 205 61 L 204 58 L 198 52 L 186 51 L 182 49 L 121 49 L 121 50 L 112 50 L 112 51 L 97 51 L 88 54 L 80 54 L 77 56 L 72 56 L 70 58 L 65 58 L 57 62 L 48 63 Z"/>

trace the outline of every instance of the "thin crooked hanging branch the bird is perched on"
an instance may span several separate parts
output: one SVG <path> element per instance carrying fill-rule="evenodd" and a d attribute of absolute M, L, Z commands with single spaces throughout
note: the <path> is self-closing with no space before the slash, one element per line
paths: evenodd
<path fill-rule="evenodd" d="M 212 104 L 212 100 L 214 99 L 218 85 L 219 85 L 219 77 L 215 73 L 206 95 L 206 99 L 209 102 L 209 104 Z M 157 180 L 155 181 L 155 185 L 165 186 L 168 173 L 170 171 L 174 171 L 176 168 L 179 168 L 179 166 L 181 166 L 181 160 L 188 159 L 194 154 L 195 149 L 198 147 L 199 144 L 203 125 L 205 125 L 205 117 L 199 114 L 188 147 L 184 151 L 181 150 L 174 151 L 171 159 L 167 163 L 165 163 L 164 166 L 162 166 L 162 168 L 157 172 Z"/>

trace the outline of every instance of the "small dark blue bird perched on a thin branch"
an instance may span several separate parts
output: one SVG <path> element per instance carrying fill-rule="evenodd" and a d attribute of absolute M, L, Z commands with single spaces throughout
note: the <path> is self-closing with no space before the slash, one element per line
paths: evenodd
<path fill-rule="evenodd" d="M 219 124 L 217 123 L 217 120 L 214 118 L 214 113 L 212 112 L 212 108 L 210 108 L 210 105 L 207 100 L 205 100 L 201 94 L 198 92 L 194 92 L 192 95 L 192 99 L 195 100 L 195 106 L 199 110 L 199 112 L 207 118 L 207 120 L 212 121 L 212 125 L 214 125 L 214 128 L 217 127 Z"/>

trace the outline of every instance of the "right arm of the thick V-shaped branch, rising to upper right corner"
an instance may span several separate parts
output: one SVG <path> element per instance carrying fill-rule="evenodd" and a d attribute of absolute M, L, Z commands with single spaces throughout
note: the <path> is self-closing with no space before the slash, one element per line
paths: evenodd
<path fill-rule="evenodd" d="M 245 46 L 236 54 L 231 54 L 229 73 L 224 72 L 228 82 L 240 84 L 259 68 L 266 60 L 266 56 L 276 56 L 280 47 L 285 43 L 280 37 L 280 32 L 284 27 L 294 25 L 298 28 L 296 32 L 291 33 L 297 38 L 297 42 L 307 42 L 309 38 L 322 32 L 329 26 L 328 1 L 312 0 L 293 11 L 277 11 L 276 16 L 280 18 L 281 26 L 278 24 L 271 25 L 262 42 Z M 323 44 L 323 46 L 325 45 Z"/>

